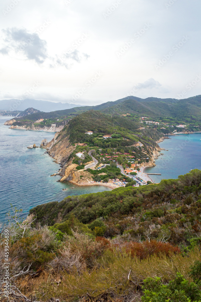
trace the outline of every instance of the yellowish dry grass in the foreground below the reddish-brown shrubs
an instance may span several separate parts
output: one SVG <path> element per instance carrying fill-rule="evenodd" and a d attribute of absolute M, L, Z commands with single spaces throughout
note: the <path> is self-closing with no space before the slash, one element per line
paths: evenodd
<path fill-rule="evenodd" d="M 61 278 L 61 275 L 44 271 L 38 278 L 24 278 L 18 280 L 20 289 L 24 294 L 36 294 L 41 301 L 47 302 L 50 298 L 59 299 L 60 301 L 82 300 L 108 300 L 140 301 L 139 292 L 136 285 L 142 284 L 147 277 L 159 276 L 162 280 L 169 281 L 175 278 L 177 272 L 190 280 L 189 269 L 195 260 L 199 260 L 201 252 L 195 249 L 188 256 L 183 257 L 181 254 L 172 255 L 168 258 L 165 255 L 153 255 L 148 259 L 132 259 L 126 253 L 114 253 L 106 251 L 105 255 L 96 262 L 93 271 L 86 270 L 81 275 L 77 272 L 76 267 L 72 268 L 70 273 L 63 271 L 62 280 L 59 286 L 55 280 Z M 130 280 L 128 273 L 131 269 Z M 88 293 L 88 294 L 87 294 Z M 110 297 L 110 298 L 109 298 Z"/>

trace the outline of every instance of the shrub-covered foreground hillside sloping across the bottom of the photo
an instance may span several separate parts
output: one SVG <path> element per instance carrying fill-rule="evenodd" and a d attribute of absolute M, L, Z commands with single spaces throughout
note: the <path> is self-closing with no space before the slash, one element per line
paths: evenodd
<path fill-rule="evenodd" d="M 15 223 L 6 226 L 14 284 L 9 297 L 200 301 L 200 193 L 201 171 L 195 169 L 158 185 L 42 204 L 24 222 L 15 209 Z M 0 268 L 2 279 L 3 262 Z"/>

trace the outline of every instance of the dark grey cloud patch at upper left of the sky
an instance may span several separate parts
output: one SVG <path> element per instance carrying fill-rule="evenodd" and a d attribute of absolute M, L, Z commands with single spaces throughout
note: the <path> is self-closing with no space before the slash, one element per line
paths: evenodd
<path fill-rule="evenodd" d="M 47 59 L 47 42 L 37 33 L 30 34 L 26 29 L 16 27 L 3 29 L 2 32 L 4 47 L 0 49 L 0 53 L 8 55 L 14 50 L 15 53 L 22 53 L 26 59 L 34 60 L 38 64 L 42 64 Z"/>

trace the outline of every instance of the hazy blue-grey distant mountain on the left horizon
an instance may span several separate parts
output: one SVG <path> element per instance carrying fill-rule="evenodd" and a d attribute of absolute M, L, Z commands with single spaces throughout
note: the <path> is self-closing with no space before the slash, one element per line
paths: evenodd
<path fill-rule="evenodd" d="M 37 110 L 50 112 L 56 110 L 65 110 L 74 107 L 82 107 L 79 104 L 68 104 L 68 103 L 54 103 L 49 101 L 39 101 L 33 99 L 11 99 L 11 100 L 2 100 L 0 101 L 0 110 L 9 110 L 9 111 L 24 111 L 27 108 L 36 108 Z"/>

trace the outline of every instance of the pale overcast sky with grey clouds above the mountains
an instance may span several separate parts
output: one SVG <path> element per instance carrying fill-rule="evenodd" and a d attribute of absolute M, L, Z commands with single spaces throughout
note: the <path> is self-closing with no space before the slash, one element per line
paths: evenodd
<path fill-rule="evenodd" d="M 200 0 L 5 0 L 0 99 L 201 94 Z"/>

